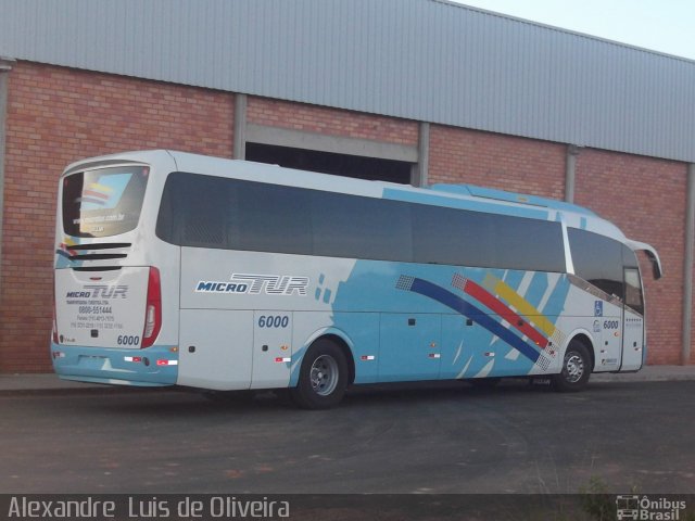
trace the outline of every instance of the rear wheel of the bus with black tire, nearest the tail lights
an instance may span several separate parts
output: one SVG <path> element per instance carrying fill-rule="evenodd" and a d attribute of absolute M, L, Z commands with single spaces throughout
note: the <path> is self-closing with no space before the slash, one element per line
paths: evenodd
<path fill-rule="evenodd" d="M 317 340 L 304 355 L 292 398 L 304 409 L 327 409 L 340 403 L 346 387 L 348 360 L 342 350 L 329 340 Z"/>

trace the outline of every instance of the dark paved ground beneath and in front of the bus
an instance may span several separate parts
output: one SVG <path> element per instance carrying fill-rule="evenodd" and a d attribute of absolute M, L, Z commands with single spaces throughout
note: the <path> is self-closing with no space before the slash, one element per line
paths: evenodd
<path fill-rule="evenodd" d="M 593 382 L 582 393 L 422 382 L 359 386 L 333 409 L 305 411 L 285 393 L 11 392 L 0 394 L 0 491 L 692 494 L 695 408 L 683 397 L 694 394 L 695 380 Z"/>

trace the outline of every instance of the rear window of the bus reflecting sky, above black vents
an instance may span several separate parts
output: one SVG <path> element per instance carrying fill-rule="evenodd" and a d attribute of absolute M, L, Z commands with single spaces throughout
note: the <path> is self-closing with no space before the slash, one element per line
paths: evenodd
<path fill-rule="evenodd" d="M 72 237 L 109 237 L 135 229 L 149 168 L 118 166 L 79 171 L 63 180 L 63 230 Z"/>

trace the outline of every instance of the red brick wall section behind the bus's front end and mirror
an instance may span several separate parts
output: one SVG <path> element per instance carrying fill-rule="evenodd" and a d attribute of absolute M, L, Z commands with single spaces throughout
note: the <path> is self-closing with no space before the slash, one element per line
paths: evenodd
<path fill-rule="evenodd" d="M 684 163 L 599 150 L 582 150 L 577 160 L 577 203 L 652 244 L 661 257 L 666 276 L 658 281 L 641 259 L 648 364 L 680 363 L 686 171 Z"/>

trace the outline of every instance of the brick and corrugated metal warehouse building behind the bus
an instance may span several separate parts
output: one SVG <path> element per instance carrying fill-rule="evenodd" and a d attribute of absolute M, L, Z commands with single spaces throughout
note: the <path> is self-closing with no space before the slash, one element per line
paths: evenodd
<path fill-rule="evenodd" d="M 572 201 L 692 364 L 695 62 L 443 0 L 0 0 L 0 372 L 51 368 L 58 178 L 166 148 Z"/>

